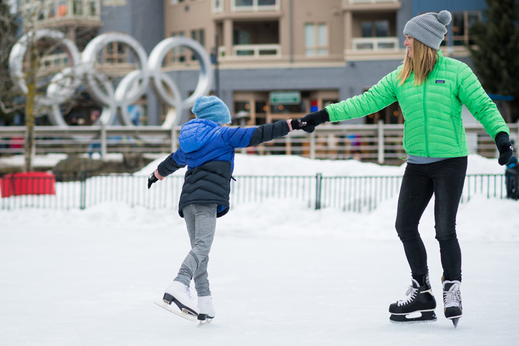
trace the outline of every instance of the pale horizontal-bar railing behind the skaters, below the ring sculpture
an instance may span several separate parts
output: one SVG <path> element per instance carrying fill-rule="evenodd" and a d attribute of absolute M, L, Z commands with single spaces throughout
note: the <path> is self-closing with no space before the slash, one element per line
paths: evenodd
<path fill-rule="evenodd" d="M 519 122 L 507 124 L 510 137 L 519 143 Z M 36 152 L 93 153 L 164 153 L 178 147 L 181 127 L 163 129 L 160 126 L 54 126 L 35 127 Z M 479 124 L 465 125 L 471 154 L 495 157 L 493 140 Z M 24 152 L 25 127 L 0 127 L 0 154 Z M 242 149 L 254 154 L 294 154 L 309 158 L 357 158 L 363 161 L 387 163 L 400 161 L 403 125 L 320 125 L 311 134 L 291 132 L 288 136 Z"/>

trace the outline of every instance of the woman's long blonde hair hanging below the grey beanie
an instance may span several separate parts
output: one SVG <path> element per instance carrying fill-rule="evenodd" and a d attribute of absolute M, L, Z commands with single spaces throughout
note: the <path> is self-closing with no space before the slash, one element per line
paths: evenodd
<path fill-rule="evenodd" d="M 412 41 L 412 57 L 409 57 L 406 51 L 403 67 L 398 76 L 400 79 L 399 85 L 406 82 L 413 71 L 415 72 L 415 85 L 425 82 L 427 75 L 434 69 L 438 60 L 438 53 L 434 48 L 426 46 L 417 39 Z"/>

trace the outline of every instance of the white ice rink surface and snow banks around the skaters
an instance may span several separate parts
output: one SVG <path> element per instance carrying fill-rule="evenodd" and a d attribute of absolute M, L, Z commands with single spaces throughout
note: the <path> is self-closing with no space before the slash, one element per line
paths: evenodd
<path fill-rule="evenodd" d="M 404 167 L 237 155 L 235 174 L 401 175 Z M 469 174 L 502 172 L 495 159 L 469 157 Z M 432 203 L 420 230 L 438 320 L 389 322 L 388 305 L 410 283 L 396 207 L 396 197 L 364 213 L 286 199 L 235 206 L 217 221 L 209 266 L 217 317 L 203 328 L 153 304 L 189 251 L 176 210 L 0 210 L 0 345 L 515 345 L 519 202 L 475 195 L 459 208 L 457 329 L 441 308 Z"/>

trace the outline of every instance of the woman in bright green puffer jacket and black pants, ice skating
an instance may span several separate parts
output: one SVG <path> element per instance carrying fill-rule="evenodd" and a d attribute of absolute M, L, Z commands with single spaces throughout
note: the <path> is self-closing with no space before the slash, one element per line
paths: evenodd
<path fill-rule="evenodd" d="M 301 118 L 304 131 L 322 122 L 367 116 L 398 101 L 404 119 L 403 148 L 407 167 L 399 194 L 396 228 L 411 268 L 407 298 L 390 305 L 392 322 L 436 320 L 435 298 L 428 279 L 427 254 L 418 224 L 432 194 L 435 229 L 443 267 L 444 313 L 454 325 L 462 316 L 462 255 L 455 222 L 466 175 L 468 146 L 462 104 L 495 140 L 500 165 L 513 149 L 509 128 L 480 82 L 464 63 L 444 57 L 439 45 L 447 33 L 450 12 L 429 12 L 406 24 L 403 65 L 362 95 Z M 420 312 L 419 317 L 408 318 Z"/>

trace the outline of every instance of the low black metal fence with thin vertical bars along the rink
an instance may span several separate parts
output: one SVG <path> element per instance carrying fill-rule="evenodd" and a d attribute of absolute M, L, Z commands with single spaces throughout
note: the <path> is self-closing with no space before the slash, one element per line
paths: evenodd
<path fill-rule="evenodd" d="M 183 176 L 172 175 L 147 189 L 147 176 L 107 174 L 75 178 L 60 177 L 0 179 L 0 209 L 52 208 L 84 209 L 101 203 L 125 203 L 131 207 L 168 208 L 178 206 Z M 51 178 L 47 178 L 51 179 Z M 72 179 L 72 180 L 71 180 Z M 309 208 L 338 208 L 345 212 L 369 212 L 396 197 L 401 176 L 235 176 L 231 181 L 231 206 L 268 199 L 298 199 Z M 37 185 L 52 185 L 37 194 Z M 30 192 L 30 194 L 28 194 Z M 506 198 L 504 174 L 466 176 L 462 203 L 473 196 Z"/>

